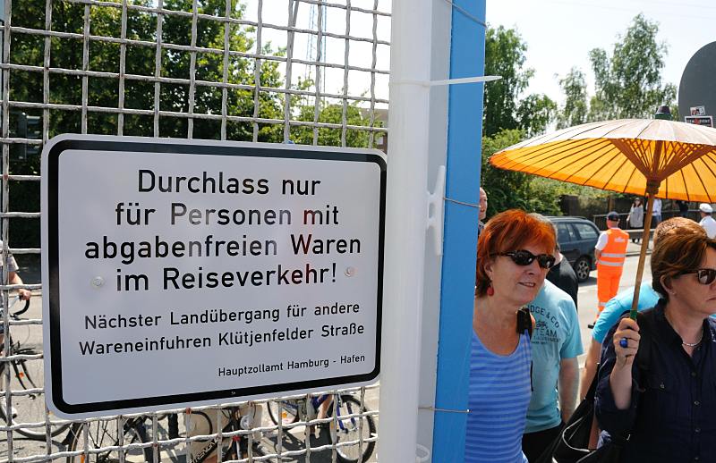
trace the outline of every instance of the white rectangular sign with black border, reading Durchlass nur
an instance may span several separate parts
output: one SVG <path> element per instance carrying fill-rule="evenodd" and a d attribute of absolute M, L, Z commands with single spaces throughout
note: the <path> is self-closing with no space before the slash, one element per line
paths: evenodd
<path fill-rule="evenodd" d="M 374 150 L 50 140 L 48 407 L 93 417 L 374 382 L 385 190 Z"/>

